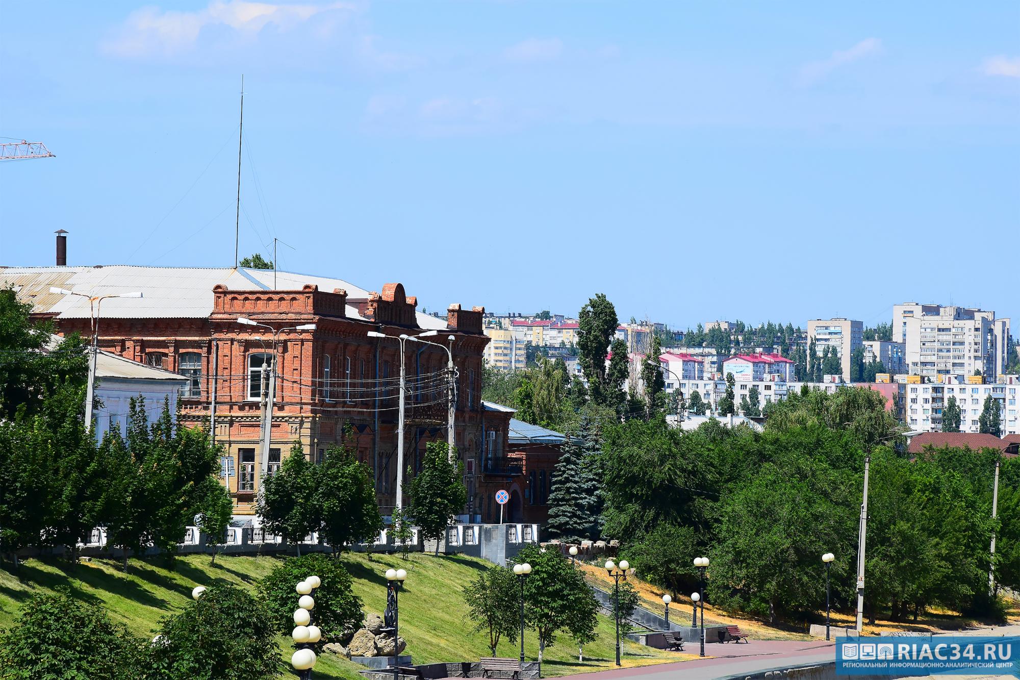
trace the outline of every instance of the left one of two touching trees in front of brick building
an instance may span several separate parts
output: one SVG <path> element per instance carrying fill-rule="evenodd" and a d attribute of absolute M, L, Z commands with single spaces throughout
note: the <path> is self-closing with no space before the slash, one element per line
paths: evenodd
<path fill-rule="evenodd" d="M 255 503 L 263 529 L 297 545 L 299 555 L 300 541 L 321 526 L 314 467 L 305 458 L 301 443 L 295 442 L 275 474 L 262 478 L 262 492 Z"/>

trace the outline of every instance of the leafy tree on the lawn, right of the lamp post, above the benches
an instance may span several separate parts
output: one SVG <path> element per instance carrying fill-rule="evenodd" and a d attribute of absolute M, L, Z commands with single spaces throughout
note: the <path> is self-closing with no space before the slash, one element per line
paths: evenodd
<path fill-rule="evenodd" d="M 516 561 L 531 565 L 531 574 L 524 579 L 524 623 L 539 635 L 539 663 L 561 631 L 590 640 L 599 601 L 580 570 L 558 550 L 534 544 L 518 552 Z"/>

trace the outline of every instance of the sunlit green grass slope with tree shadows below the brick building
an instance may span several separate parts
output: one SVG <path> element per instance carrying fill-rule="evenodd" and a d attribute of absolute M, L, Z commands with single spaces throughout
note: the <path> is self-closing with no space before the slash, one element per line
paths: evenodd
<path fill-rule="evenodd" d="M 232 583 L 252 588 L 268 574 L 277 557 L 216 557 L 210 566 L 208 555 L 132 560 L 128 574 L 119 563 L 94 560 L 70 566 L 61 560 L 30 560 L 17 573 L 10 565 L 0 569 L 0 628 L 9 627 L 17 616 L 19 602 L 31 593 L 67 587 L 76 597 L 101 602 L 110 617 L 125 623 L 137 635 L 152 636 L 159 618 L 185 606 L 196 585 L 213 582 Z M 341 557 L 354 578 L 355 593 L 364 602 L 365 612 L 381 614 L 386 606 L 386 579 L 389 567 L 407 570 L 407 581 L 400 595 L 400 633 L 407 639 L 407 650 L 415 663 L 474 661 L 490 653 L 488 634 L 469 633 L 465 621 L 466 605 L 461 591 L 478 570 L 489 563 L 463 556 L 432 556 L 415 553 L 405 562 L 399 555 L 351 553 Z M 280 638 L 282 654 L 290 659 L 289 638 Z M 567 636 L 546 649 L 543 675 L 556 676 L 613 667 L 614 635 L 612 621 L 600 617 L 599 639 L 584 647 L 584 662 L 577 662 L 577 647 Z M 289 650 L 290 649 L 290 650 Z M 525 631 L 524 652 L 528 660 L 538 658 L 534 634 Z M 501 642 L 500 657 L 516 657 L 519 648 Z M 688 659 L 688 654 L 661 651 L 624 641 L 624 666 L 657 664 Z M 288 666 L 289 667 L 289 666 Z M 360 680 L 357 669 L 363 668 L 346 659 L 324 653 L 315 667 L 315 677 Z"/>

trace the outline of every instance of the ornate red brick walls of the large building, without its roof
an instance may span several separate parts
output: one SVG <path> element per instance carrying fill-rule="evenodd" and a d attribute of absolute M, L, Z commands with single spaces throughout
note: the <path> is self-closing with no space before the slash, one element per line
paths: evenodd
<path fill-rule="evenodd" d="M 224 479 L 238 514 L 252 514 L 261 476 L 260 376 L 263 354 L 274 355 L 277 382 L 270 437 L 270 468 L 300 443 L 306 456 L 316 459 L 346 428 L 359 457 L 371 467 L 384 515 L 395 502 L 399 343 L 371 338 L 378 331 L 396 338 L 418 335 L 417 300 L 404 287 L 387 284 L 381 294 L 351 298 L 343 289 L 320 291 L 315 285 L 300 290 L 235 290 L 213 287 L 212 312 L 205 318 L 107 318 L 99 325 L 99 346 L 136 361 L 172 372 L 192 372 L 197 389 L 182 396 L 185 422 L 208 424 L 215 391 L 215 438 L 224 448 Z M 352 318 L 348 309 L 357 309 Z M 482 352 L 489 339 L 481 332 L 483 308 L 449 310 L 447 330 L 427 340 L 450 345 L 457 386 L 455 434 L 465 463 L 469 508 L 477 506 L 477 471 L 483 451 L 481 412 Z M 90 322 L 61 318 L 47 309 L 61 333 L 89 335 Z M 273 347 L 272 333 L 246 326 L 247 318 L 279 330 L 315 324 L 314 331 L 282 331 Z M 447 352 L 431 345 L 406 343 L 408 400 L 406 402 L 405 464 L 420 466 L 430 441 L 447 437 Z M 328 381 L 328 382 L 327 382 Z M 506 428 L 499 431 L 505 445 Z M 409 480 L 405 479 L 405 492 Z M 405 498 L 406 502 L 406 498 Z"/>

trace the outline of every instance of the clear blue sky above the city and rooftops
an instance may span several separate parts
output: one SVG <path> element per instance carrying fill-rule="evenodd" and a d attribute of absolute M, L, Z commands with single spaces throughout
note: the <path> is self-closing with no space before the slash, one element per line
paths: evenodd
<path fill-rule="evenodd" d="M 1010 314 L 1013 2 L 0 0 L 0 264 L 232 265 L 622 318 Z M 11 30 L 18 27 L 17 30 Z M 987 269 L 985 269 L 987 268 Z M 1018 310 L 1020 311 L 1020 310 Z"/>

